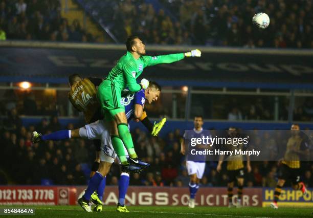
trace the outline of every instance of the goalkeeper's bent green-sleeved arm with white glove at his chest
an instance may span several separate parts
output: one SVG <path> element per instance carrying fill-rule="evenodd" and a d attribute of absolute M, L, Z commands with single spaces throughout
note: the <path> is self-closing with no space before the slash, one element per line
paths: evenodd
<path fill-rule="evenodd" d="M 125 62 L 125 61 L 124 61 Z M 140 84 L 137 83 L 136 78 L 132 75 L 133 72 L 136 73 L 136 67 L 131 63 L 120 63 L 121 69 L 124 71 L 124 76 L 126 79 L 126 85 L 130 92 L 138 92 L 142 89 L 147 89 L 149 86 L 149 81 L 143 79 Z"/>

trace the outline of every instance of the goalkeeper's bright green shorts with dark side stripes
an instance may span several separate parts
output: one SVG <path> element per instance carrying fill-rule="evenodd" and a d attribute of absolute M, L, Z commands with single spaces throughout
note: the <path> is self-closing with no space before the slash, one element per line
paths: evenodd
<path fill-rule="evenodd" d="M 101 105 L 102 114 L 106 120 L 114 119 L 120 112 L 125 113 L 125 107 L 121 104 L 122 88 L 116 86 L 113 81 L 103 80 L 98 87 L 97 98 Z"/>

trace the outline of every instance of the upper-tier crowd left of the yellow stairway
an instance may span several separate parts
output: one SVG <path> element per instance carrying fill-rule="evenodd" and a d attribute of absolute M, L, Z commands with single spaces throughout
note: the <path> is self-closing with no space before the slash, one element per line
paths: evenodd
<path fill-rule="evenodd" d="M 93 42 L 78 20 L 61 16 L 59 0 L 0 0 L 0 40 Z"/>

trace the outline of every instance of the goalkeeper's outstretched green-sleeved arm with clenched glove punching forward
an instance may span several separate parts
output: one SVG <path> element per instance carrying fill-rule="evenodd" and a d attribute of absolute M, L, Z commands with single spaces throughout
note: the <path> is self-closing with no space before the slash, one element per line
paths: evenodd
<path fill-rule="evenodd" d="M 154 66 L 160 63 L 172 63 L 180 61 L 185 57 L 200 57 L 201 52 L 199 50 L 192 50 L 191 52 L 169 54 L 169 55 L 158 55 L 158 56 L 143 56 L 145 61 L 145 67 Z"/>

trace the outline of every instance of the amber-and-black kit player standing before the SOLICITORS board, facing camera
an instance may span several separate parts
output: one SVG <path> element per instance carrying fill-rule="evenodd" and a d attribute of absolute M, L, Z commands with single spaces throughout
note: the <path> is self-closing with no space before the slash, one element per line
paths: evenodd
<path fill-rule="evenodd" d="M 228 137 L 234 138 L 238 137 L 237 129 L 234 127 L 230 127 L 228 129 Z M 225 148 L 227 150 L 235 150 L 235 149 L 243 149 L 243 144 L 239 145 L 225 145 Z M 216 170 L 220 172 L 222 162 L 226 159 L 224 156 L 219 157 L 218 165 Z M 243 157 L 242 155 L 237 156 L 229 156 L 227 157 L 227 176 L 229 178 L 228 184 L 227 184 L 227 194 L 228 194 L 228 201 L 229 205 L 228 207 L 235 207 L 233 204 L 233 188 L 234 183 L 237 180 L 238 184 L 238 198 L 237 198 L 237 208 L 241 207 L 241 200 L 242 200 L 242 189 L 243 189 L 243 182 L 244 182 L 244 165 L 243 165 Z M 250 165 L 250 159 L 247 155 L 247 170 L 248 172 L 251 171 L 251 165 Z"/>

